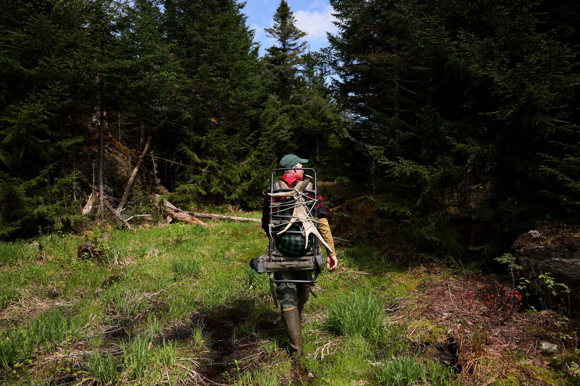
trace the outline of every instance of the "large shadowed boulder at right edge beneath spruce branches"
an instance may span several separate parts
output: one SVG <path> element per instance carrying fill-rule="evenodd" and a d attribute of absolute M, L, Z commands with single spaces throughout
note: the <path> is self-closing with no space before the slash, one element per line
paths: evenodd
<path fill-rule="evenodd" d="M 520 274 L 530 281 L 527 284 L 530 293 L 545 299 L 546 306 L 550 306 L 550 297 L 554 305 L 560 299 L 566 307 L 570 302 L 570 311 L 580 313 L 580 226 L 563 221 L 542 225 L 520 235 L 513 248 L 519 253 L 517 264 L 523 267 Z M 551 289 L 544 279 L 538 278 L 546 273 L 555 283 Z M 559 284 L 567 286 L 570 292 L 566 293 Z"/>

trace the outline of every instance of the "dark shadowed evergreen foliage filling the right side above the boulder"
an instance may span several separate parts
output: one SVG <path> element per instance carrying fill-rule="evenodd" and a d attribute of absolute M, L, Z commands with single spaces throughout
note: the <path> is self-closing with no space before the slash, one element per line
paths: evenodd
<path fill-rule="evenodd" d="M 352 113 L 368 177 L 390 194 L 378 207 L 407 220 L 418 242 L 449 262 L 468 248 L 495 255 L 578 201 L 554 167 L 575 163 L 554 142 L 580 139 L 577 5 L 331 4 L 334 96 Z"/>

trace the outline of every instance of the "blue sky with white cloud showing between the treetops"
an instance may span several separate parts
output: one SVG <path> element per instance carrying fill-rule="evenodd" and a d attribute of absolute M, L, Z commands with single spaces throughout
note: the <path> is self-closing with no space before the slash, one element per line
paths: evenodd
<path fill-rule="evenodd" d="M 265 49 L 274 45 L 274 39 L 268 38 L 264 28 L 271 28 L 274 24 L 272 16 L 280 5 L 280 0 L 247 0 L 242 12 L 247 14 L 246 23 L 255 31 L 256 42 L 260 42 L 260 56 Z M 310 44 L 310 50 L 316 51 L 328 46 L 326 32 L 335 32 L 336 27 L 332 24 L 335 17 L 328 1 L 318 0 L 287 0 L 288 5 L 296 17 L 296 27 L 306 32 L 304 38 Z"/>

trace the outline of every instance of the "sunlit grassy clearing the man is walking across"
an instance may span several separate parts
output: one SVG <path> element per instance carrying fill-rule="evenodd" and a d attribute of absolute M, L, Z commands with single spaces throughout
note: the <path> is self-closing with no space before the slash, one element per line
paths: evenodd
<path fill-rule="evenodd" d="M 433 355 L 438 336 L 415 343 L 443 331 L 417 322 L 416 299 L 425 278 L 448 271 L 409 270 L 362 247 L 339 249 L 338 271 L 320 275 L 318 297 L 305 309 L 305 355 L 291 363 L 287 337 L 273 323 L 267 275 L 248 266 L 266 247 L 262 229 L 210 223 L 136 233 L 100 226 L 0 245 L 3 383 L 484 383 L 447 366 L 449 353 Z M 96 245 L 94 258 L 79 258 L 88 241 Z M 521 356 L 507 367 L 524 362 Z M 510 374 L 499 365 L 493 371 Z M 557 384 L 570 383 L 543 371 Z M 502 379 L 507 375 L 496 383 Z"/>

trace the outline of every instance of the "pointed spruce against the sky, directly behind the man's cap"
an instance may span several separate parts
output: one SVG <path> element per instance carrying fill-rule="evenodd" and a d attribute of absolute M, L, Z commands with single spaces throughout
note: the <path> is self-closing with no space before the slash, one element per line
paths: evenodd
<path fill-rule="evenodd" d="M 278 125 L 272 152 L 278 157 L 299 153 L 311 160 L 310 167 L 332 164 L 336 145 L 330 139 L 341 126 L 340 111 L 318 70 L 321 61 L 316 53 L 306 53 L 306 32 L 296 27 L 287 1 L 281 0 L 273 19 L 274 26 L 265 30 L 277 43 L 266 49 L 262 61 L 267 90 L 280 100 L 280 116 L 287 123 Z"/>

